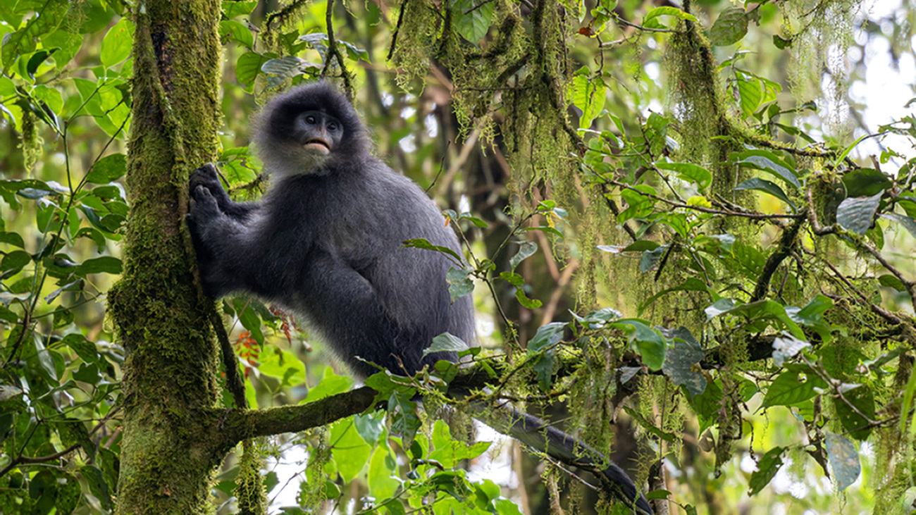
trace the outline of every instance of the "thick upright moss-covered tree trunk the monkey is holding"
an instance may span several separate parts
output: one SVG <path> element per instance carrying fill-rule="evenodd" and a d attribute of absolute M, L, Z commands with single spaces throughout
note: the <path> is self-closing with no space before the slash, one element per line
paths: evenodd
<path fill-rule="evenodd" d="M 123 279 L 109 295 L 128 356 L 117 512 L 203 513 L 227 452 L 218 348 L 191 275 L 188 172 L 213 160 L 220 123 L 217 0 L 146 0 L 134 21 L 131 212 Z"/>

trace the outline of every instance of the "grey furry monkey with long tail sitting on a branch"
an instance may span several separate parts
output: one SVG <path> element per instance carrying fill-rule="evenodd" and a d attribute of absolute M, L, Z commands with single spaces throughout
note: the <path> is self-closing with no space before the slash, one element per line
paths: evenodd
<path fill-rule="evenodd" d="M 402 242 L 425 238 L 461 253 L 458 238 L 419 185 L 372 155 L 353 105 L 311 82 L 275 96 L 253 128 L 272 183 L 260 202 L 232 201 L 211 164 L 191 174 L 187 221 L 204 293 L 251 293 L 296 313 L 357 378 L 456 362 L 453 352 L 423 351 L 446 332 L 474 344 L 471 297 L 451 300 L 449 257 Z M 523 444 L 597 471 L 620 499 L 653 513 L 620 467 L 573 436 L 512 408 L 472 410 Z"/>

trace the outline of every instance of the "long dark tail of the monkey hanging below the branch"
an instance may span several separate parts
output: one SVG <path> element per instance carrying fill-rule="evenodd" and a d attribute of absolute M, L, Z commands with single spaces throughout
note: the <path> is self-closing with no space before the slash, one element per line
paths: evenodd
<path fill-rule="evenodd" d="M 563 433 L 537 417 L 511 406 L 493 407 L 485 402 L 470 403 L 474 418 L 492 426 L 500 433 L 515 438 L 569 466 L 589 470 L 602 484 L 640 514 L 654 515 L 649 501 L 640 494 L 636 484 L 622 468 L 605 455 L 584 444 L 571 434 Z"/>

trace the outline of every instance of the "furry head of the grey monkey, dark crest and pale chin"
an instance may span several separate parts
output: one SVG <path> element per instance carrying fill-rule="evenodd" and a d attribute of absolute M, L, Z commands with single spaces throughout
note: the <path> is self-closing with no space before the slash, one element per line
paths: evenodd
<path fill-rule="evenodd" d="M 327 122 L 339 137 L 303 140 L 303 125 L 319 118 L 319 128 Z M 322 126 L 322 123 L 325 124 Z M 354 157 L 369 155 L 365 126 L 343 93 L 327 82 L 310 82 L 272 98 L 256 115 L 252 142 L 265 170 L 275 178 L 293 175 L 324 175 L 351 163 Z M 322 147 L 322 148 L 318 148 Z"/>

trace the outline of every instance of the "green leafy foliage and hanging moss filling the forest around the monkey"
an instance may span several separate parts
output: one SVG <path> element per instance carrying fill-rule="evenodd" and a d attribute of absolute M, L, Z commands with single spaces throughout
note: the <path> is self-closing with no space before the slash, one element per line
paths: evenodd
<path fill-rule="evenodd" d="M 473 292 L 495 329 L 484 349 L 445 336 L 430 351 L 460 351 L 485 377 L 474 400 L 565 404 L 566 428 L 600 449 L 623 438 L 609 424 L 627 422 L 643 444 L 618 461 L 648 479 L 649 499 L 687 511 L 900 512 L 914 497 L 916 118 L 850 132 L 846 85 L 862 80 L 866 52 L 842 70 L 824 56 L 888 39 L 911 62 L 912 24 L 888 32 L 846 0 L 684 4 L 264 13 L 227 0 L 218 164 L 235 197 L 256 196 L 264 179 L 245 146 L 256 103 L 338 82 L 376 127 L 376 151 L 452 208 L 466 244 L 451 255 L 453 298 Z M 0 7 L 3 512 L 114 510 L 125 352 L 102 302 L 131 204 L 133 16 L 105 0 Z M 252 408 L 352 388 L 289 313 L 248 298 L 222 308 L 239 326 Z M 460 416 L 438 420 L 467 407 L 446 395 L 461 372 L 380 372 L 366 385 L 387 411 L 272 439 L 260 451 L 270 463 L 310 449 L 284 511 L 542 512 L 550 497 L 606 508 L 558 487 L 559 467 L 535 488 L 484 477 L 480 463 L 506 459 L 496 445 L 474 443 Z M 223 403 L 234 408 L 228 393 Z M 678 472 L 663 485 L 649 466 L 660 460 Z M 267 491 L 286 472 L 269 471 Z M 230 459 L 213 485 L 220 512 L 234 510 L 236 484 L 259 504 L 261 478 Z"/>

